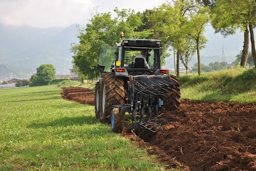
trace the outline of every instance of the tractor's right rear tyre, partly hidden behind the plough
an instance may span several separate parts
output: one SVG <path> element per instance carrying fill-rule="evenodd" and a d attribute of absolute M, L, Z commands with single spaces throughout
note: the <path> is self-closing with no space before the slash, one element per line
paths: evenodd
<path fill-rule="evenodd" d="M 178 85 L 175 85 L 179 90 L 172 89 L 172 92 L 168 92 L 165 95 L 167 96 L 167 101 L 164 102 L 164 109 L 165 111 L 173 111 L 176 109 L 180 109 L 180 83 L 179 79 L 173 75 L 170 75 L 169 78 L 171 81 L 177 83 Z"/>

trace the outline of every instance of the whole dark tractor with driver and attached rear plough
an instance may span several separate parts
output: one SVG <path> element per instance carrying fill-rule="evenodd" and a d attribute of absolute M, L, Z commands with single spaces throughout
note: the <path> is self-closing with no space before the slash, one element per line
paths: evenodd
<path fill-rule="evenodd" d="M 145 53 L 144 57 L 137 58 Z M 95 84 L 95 116 L 122 132 L 125 115 L 131 116 L 131 131 L 162 130 L 165 111 L 179 109 L 179 79 L 161 69 L 162 42 L 155 39 L 122 39 L 116 46 L 102 45 Z M 144 59 L 143 59 L 144 58 Z M 128 114 L 127 114 L 128 113 Z"/>

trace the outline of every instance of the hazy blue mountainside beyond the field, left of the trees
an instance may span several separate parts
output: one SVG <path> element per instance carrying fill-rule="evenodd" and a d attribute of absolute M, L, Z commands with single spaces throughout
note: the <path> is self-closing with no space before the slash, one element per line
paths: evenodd
<path fill-rule="evenodd" d="M 72 67 L 70 44 L 78 42 L 75 25 L 67 28 L 0 25 L 0 37 L 0 63 L 33 70 L 42 63 L 51 63 L 61 72 Z"/>

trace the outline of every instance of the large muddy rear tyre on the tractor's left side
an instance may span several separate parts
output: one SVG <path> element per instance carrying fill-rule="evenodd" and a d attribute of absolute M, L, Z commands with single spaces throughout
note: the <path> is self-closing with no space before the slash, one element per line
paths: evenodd
<path fill-rule="evenodd" d="M 102 75 L 100 88 L 100 120 L 110 123 L 112 105 L 124 103 L 124 80 L 116 77 L 114 72 Z"/>

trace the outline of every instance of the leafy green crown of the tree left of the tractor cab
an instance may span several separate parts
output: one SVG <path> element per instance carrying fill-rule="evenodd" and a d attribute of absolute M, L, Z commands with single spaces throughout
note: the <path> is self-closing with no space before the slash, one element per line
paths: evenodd
<path fill-rule="evenodd" d="M 99 77 L 97 63 L 101 45 L 115 46 L 121 41 L 121 31 L 125 38 L 146 38 L 151 34 L 151 30 L 137 31 L 143 25 L 140 14 L 131 9 L 119 11 L 116 8 L 114 12 L 114 18 L 110 12 L 93 14 L 86 28 L 80 30 L 79 44 L 71 48 L 75 66 L 87 79 Z"/>

